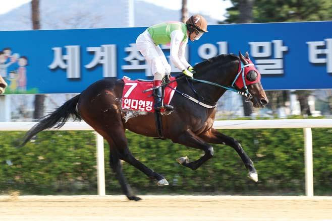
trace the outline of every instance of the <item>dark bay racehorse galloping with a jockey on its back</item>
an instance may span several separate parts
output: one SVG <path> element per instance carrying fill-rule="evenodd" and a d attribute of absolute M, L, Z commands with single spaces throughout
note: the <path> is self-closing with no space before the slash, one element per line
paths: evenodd
<path fill-rule="evenodd" d="M 254 84 L 248 84 L 248 90 L 252 95 L 248 99 L 255 107 L 264 107 L 268 100 L 261 86 L 258 70 L 254 68 L 254 70 L 244 71 L 243 79 L 241 75 L 238 75 L 240 67 L 246 64 L 250 65 L 249 63 L 251 61 L 248 53 L 246 53 L 246 57 L 241 53 L 239 57 L 233 54 L 219 55 L 194 66 L 196 70 L 194 77 L 201 82 L 191 80 L 193 84 L 190 85 L 184 77 L 178 80 L 178 91 L 196 98 L 199 95 L 202 103 L 212 107 L 201 106 L 180 93 L 175 93 L 171 101 L 174 111 L 169 115 L 162 115 L 165 138 L 171 139 L 174 143 L 202 150 L 205 153 L 200 159 L 192 162 L 189 162 L 189 159 L 185 157 L 177 159 L 183 166 L 196 170 L 213 156 L 213 148 L 210 143 L 226 144 L 234 148 L 239 154 L 245 167 L 249 170 L 248 176 L 254 181 L 258 180 L 253 162 L 244 152 L 240 143 L 212 127 L 216 113 L 215 104 L 226 89 L 202 82 L 209 81 L 230 87 L 238 77 L 240 82 L 249 81 L 250 83 L 250 81 L 256 81 Z M 81 94 L 68 100 L 53 113 L 41 119 L 38 124 L 27 132 L 23 144 L 42 130 L 51 127 L 60 128 L 72 115 L 75 119 L 83 119 L 107 140 L 110 149 L 109 165 L 115 172 L 122 191 L 128 199 L 140 200 L 130 190 L 123 175 L 120 160 L 131 164 L 148 177 L 155 179 L 157 185 L 168 185 L 164 177 L 135 159 L 129 150 L 125 135 L 126 129 L 151 137 L 157 137 L 158 134 L 154 113 L 137 114 L 128 118 L 130 111 L 121 108 L 123 88 L 124 82 L 122 80 L 100 80 L 95 82 Z M 244 92 L 245 89 L 238 88 L 238 90 Z"/>

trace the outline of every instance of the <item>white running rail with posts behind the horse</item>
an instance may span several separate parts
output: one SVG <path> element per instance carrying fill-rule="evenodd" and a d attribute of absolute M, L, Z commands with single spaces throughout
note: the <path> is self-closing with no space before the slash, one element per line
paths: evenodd
<path fill-rule="evenodd" d="M 0 130 L 25 131 L 36 122 L 0 122 Z M 332 119 L 289 119 L 289 120 L 217 120 L 215 129 L 264 129 L 264 128 L 303 128 L 305 147 L 305 188 L 306 195 L 313 196 L 312 133 L 311 128 L 332 128 Z M 67 122 L 59 130 L 93 130 L 85 122 Z M 105 195 L 104 143 L 96 133 L 98 194 Z"/>

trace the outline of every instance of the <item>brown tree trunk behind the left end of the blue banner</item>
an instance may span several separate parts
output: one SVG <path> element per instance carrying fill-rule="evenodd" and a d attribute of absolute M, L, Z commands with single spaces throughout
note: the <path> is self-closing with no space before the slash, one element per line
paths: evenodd
<path fill-rule="evenodd" d="M 32 20 L 32 29 L 39 30 L 40 29 L 39 0 L 31 1 L 31 20 Z M 45 101 L 45 95 L 35 95 L 35 109 L 33 112 L 34 119 L 39 119 L 43 116 L 44 101 Z"/>

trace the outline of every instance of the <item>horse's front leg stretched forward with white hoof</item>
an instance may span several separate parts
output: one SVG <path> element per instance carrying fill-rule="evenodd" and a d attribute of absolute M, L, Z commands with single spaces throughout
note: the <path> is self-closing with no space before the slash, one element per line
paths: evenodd
<path fill-rule="evenodd" d="M 209 143 L 226 144 L 234 148 L 234 150 L 241 157 L 245 167 L 249 170 L 248 177 L 255 182 L 258 181 L 258 175 L 254 167 L 254 163 L 244 152 L 241 144 L 236 139 L 230 136 L 226 136 L 225 134 L 218 132 L 214 128 L 211 128 L 205 133 L 200 134 L 199 137 L 201 137 L 204 141 Z"/>

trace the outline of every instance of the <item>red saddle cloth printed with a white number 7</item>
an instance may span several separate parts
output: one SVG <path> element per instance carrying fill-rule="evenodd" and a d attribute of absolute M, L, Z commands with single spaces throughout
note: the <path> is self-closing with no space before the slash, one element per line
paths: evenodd
<path fill-rule="evenodd" d="M 137 110 L 145 112 L 154 112 L 154 99 L 153 99 L 153 90 L 143 93 L 144 90 L 153 88 L 153 81 L 151 82 L 140 82 L 132 81 L 123 78 L 125 82 L 125 87 L 123 88 L 122 94 L 122 109 L 126 110 Z M 171 81 L 175 80 L 175 77 L 171 77 Z M 170 87 L 176 89 L 178 83 L 172 82 L 169 84 Z M 170 87 L 165 87 L 163 103 L 170 104 L 175 90 L 172 90 Z"/>

